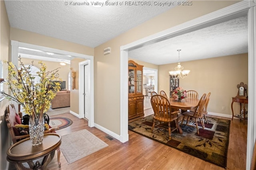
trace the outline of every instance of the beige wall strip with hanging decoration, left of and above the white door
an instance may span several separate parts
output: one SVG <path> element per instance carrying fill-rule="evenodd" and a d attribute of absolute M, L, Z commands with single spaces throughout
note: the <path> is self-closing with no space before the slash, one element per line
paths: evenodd
<path fill-rule="evenodd" d="M 70 63 L 70 68 L 76 72 L 75 89 L 70 90 L 70 111 L 79 114 L 79 63 L 84 59 L 73 59 Z"/>

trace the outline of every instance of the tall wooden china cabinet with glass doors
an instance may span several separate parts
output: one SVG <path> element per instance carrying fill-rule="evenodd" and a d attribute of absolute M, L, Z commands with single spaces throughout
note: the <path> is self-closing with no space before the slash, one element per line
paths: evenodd
<path fill-rule="evenodd" d="M 128 120 L 144 116 L 143 66 L 128 61 Z"/>

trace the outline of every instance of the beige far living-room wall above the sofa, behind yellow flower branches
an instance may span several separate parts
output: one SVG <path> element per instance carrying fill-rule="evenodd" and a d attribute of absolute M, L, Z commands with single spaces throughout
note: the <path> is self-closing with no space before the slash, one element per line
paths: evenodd
<path fill-rule="evenodd" d="M 22 58 L 22 55 L 21 55 Z M 37 68 L 40 68 L 41 66 L 38 64 L 40 60 L 32 60 L 27 58 L 21 59 L 22 63 L 31 64 L 32 61 L 34 61 L 34 66 Z M 53 62 L 53 61 L 42 61 L 47 66 L 47 71 L 52 71 L 56 68 L 58 68 L 59 78 L 62 79 L 62 81 L 66 81 L 66 89 L 68 89 L 68 72 L 70 71 L 70 64 L 66 64 L 64 66 L 60 65 L 59 62 Z"/>

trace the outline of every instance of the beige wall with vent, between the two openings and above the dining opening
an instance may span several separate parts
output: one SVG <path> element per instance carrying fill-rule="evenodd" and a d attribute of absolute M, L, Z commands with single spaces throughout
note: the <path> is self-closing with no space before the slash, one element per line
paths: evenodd
<path fill-rule="evenodd" d="M 192 6 L 177 6 L 96 47 L 95 123 L 120 134 L 120 46 L 237 2 L 193 1 Z M 104 56 L 103 49 L 106 47 L 111 47 L 111 53 Z"/>

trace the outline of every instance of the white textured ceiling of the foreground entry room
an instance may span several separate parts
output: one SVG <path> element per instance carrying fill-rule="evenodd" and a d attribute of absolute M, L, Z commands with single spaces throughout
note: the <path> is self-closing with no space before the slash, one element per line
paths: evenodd
<path fill-rule="evenodd" d="M 87 1 L 6 0 L 5 4 L 11 27 L 88 47 L 101 45 L 174 7 L 104 5 L 97 8 L 72 5 L 73 2 Z"/>

